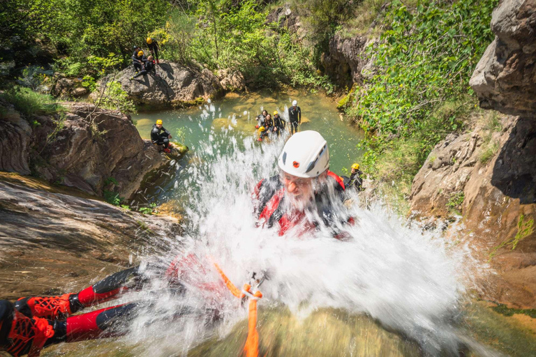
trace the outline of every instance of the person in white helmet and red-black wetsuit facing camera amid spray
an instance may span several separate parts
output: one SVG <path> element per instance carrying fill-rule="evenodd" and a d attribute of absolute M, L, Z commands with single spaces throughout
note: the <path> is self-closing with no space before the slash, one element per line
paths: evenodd
<path fill-rule="evenodd" d="M 312 130 L 292 135 L 278 166 L 278 175 L 255 187 L 258 225 L 278 227 L 280 236 L 294 227 L 299 235 L 327 227 L 336 238 L 345 238 L 341 227 L 354 220 L 344 213 L 345 186 L 341 177 L 329 171 L 329 149 L 322 135 Z"/>

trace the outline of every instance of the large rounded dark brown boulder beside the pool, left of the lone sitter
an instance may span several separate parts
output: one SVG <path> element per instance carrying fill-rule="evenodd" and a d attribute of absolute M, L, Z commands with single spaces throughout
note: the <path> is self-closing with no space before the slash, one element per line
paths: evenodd
<path fill-rule="evenodd" d="M 94 195 L 103 195 L 106 189 L 128 199 L 146 174 L 168 162 L 140 137 L 130 116 L 85 103 L 66 107 L 64 128 L 54 140 L 46 146 L 36 140 L 44 147 L 40 157 L 47 162 L 36 164 L 41 176 Z"/>

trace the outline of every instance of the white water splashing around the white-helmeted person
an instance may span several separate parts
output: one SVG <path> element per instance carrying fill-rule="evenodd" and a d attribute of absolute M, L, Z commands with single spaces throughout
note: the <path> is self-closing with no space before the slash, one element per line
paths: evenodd
<path fill-rule="evenodd" d="M 212 129 L 209 139 L 198 144 L 183 186 L 186 192 L 180 192 L 188 197 L 184 234 L 155 242 L 144 258 L 149 266 L 165 268 L 176 256 L 195 255 L 200 263 L 184 280 L 188 292 L 168 294 L 166 280 L 155 275 L 152 292 L 126 296 L 125 301 L 158 301 L 137 317 L 130 341 L 143 341 L 151 356 L 186 354 L 214 328 L 200 323 L 205 317 L 196 314 L 177 317 L 184 305 L 218 310 L 221 335 L 244 319 L 245 310 L 211 268 L 217 261 L 237 286 L 253 271 L 267 272 L 260 309 L 283 304 L 301 318 L 321 307 L 364 313 L 416 340 L 426 354 L 456 354 L 459 340 L 449 321 L 464 292 L 465 252 L 449 251 L 438 232 L 406 227 L 380 204 L 360 208 L 355 195 L 355 204 L 336 208 L 338 215 L 348 209 L 355 217 L 354 226 L 342 227 L 351 237 L 348 241 L 336 240 L 325 227 L 284 237 L 276 228 L 256 227 L 251 192 L 260 179 L 278 172 L 276 159 L 285 138 L 260 146 L 252 137 L 229 135 L 228 130 Z M 207 284 L 218 288 L 199 288 Z"/>

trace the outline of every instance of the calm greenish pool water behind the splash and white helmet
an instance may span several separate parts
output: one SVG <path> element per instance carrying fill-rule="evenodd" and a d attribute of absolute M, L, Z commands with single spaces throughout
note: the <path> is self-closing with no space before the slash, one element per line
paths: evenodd
<path fill-rule="evenodd" d="M 181 192 L 184 192 L 182 189 L 188 182 L 189 176 L 185 168 L 188 167 L 190 160 L 196 160 L 195 153 L 201 146 L 212 144 L 214 150 L 225 153 L 232 147 L 228 145 L 231 140 L 236 139 L 240 146 L 240 143 L 248 137 L 257 138 L 255 118 L 262 109 L 267 109 L 270 114 L 277 110 L 285 118 L 287 116 L 285 107 L 289 107 L 292 100 L 297 100 L 301 108 L 302 123 L 299 130 L 320 132 L 329 144 L 330 169 L 339 175 L 347 174 L 346 170 L 353 162 L 359 162 L 362 155 L 357 149 L 357 144 L 363 134 L 353 123 L 341 119 L 336 109 L 336 102 L 332 98 L 322 93 L 298 90 L 261 91 L 244 95 L 230 93 L 225 98 L 214 100 L 207 105 L 133 116 L 137 130 L 144 139 L 149 139 L 153 124 L 161 119 L 164 128 L 171 132 L 172 141 L 182 142 L 190 149 L 174 169 L 151 179 L 151 187 L 145 190 L 143 195 L 135 197 L 135 200 L 140 202 L 140 206 L 161 204 L 169 199 L 180 201 Z M 255 144 L 271 145 L 269 141 Z M 204 160 L 210 159 L 204 158 Z M 260 162 L 260 165 L 263 164 Z"/>

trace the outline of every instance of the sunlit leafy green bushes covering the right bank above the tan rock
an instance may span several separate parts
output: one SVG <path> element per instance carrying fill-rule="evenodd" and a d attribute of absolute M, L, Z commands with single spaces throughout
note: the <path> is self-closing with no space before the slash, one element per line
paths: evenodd
<path fill-rule="evenodd" d="M 363 164 L 374 179 L 397 178 L 407 188 L 433 146 L 462 130 L 477 100 L 468 81 L 493 40 L 496 0 L 443 3 L 393 1 L 382 15 L 390 24 L 366 49 L 375 74 L 346 109 L 365 130 Z"/>

